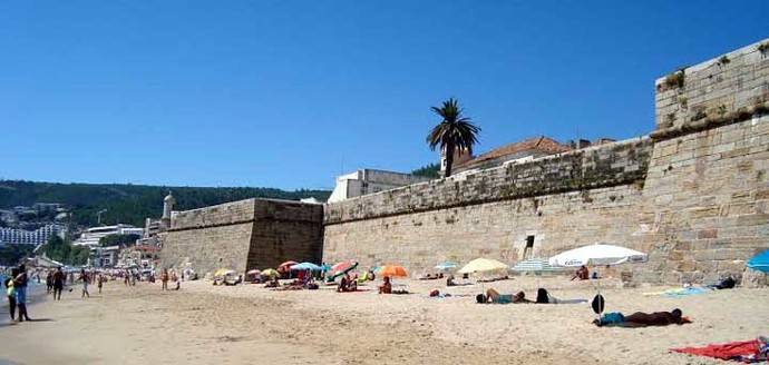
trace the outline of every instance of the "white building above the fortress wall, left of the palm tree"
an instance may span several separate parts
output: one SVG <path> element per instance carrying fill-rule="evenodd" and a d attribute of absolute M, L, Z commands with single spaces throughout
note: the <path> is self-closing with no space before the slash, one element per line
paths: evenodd
<path fill-rule="evenodd" d="M 431 179 L 428 177 L 409 174 L 360 169 L 337 178 L 337 186 L 329 197 L 329 203 L 341 201 L 361 195 L 374 194 L 429 180 Z"/>

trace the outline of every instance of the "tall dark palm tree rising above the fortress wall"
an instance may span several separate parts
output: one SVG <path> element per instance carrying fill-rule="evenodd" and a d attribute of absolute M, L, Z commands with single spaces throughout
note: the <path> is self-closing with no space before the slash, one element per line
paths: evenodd
<path fill-rule="evenodd" d="M 480 128 L 474 125 L 469 117 L 461 115 L 463 109 L 454 98 L 444 101 L 440 108 L 431 107 L 431 109 L 442 120 L 427 135 L 427 144 L 431 150 L 436 150 L 436 147 L 440 145 L 440 150 L 446 152 L 445 177 L 449 177 L 454 164 L 454 151 L 459 149 L 473 154 L 473 146 L 478 142 Z"/>

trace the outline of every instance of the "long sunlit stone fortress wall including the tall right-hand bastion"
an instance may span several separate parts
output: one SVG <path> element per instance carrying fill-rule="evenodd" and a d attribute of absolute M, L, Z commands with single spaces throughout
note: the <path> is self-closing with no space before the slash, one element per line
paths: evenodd
<path fill-rule="evenodd" d="M 323 259 L 419 273 L 445 259 L 510 263 L 605 241 L 650 254 L 632 267 L 639 280 L 739 276 L 769 248 L 761 45 L 769 40 L 656 80 L 648 137 L 329 204 Z"/>

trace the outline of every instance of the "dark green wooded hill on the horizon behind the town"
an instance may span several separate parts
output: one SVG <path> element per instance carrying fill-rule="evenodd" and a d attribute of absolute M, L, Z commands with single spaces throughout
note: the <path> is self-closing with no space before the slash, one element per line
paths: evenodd
<path fill-rule="evenodd" d="M 35 203 L 61 203 L 72 213 L 72 224 L 95 226 L 96 213 L 103 224 L 126 223 L 144 226 L 146 217 L 158 218 L 163 213 L 163 198 L 173 191 L 174 210 L 187 210 L 247 198 L 276 198 L 299 200 L 314 197 L 328 199 L 328 190 L 286 191 L 273 188 L 210 188 L 169 187 L 130 184 L 58 184 L 22 180 L 0 180 L 0 209 L 31 206 Z"/>

